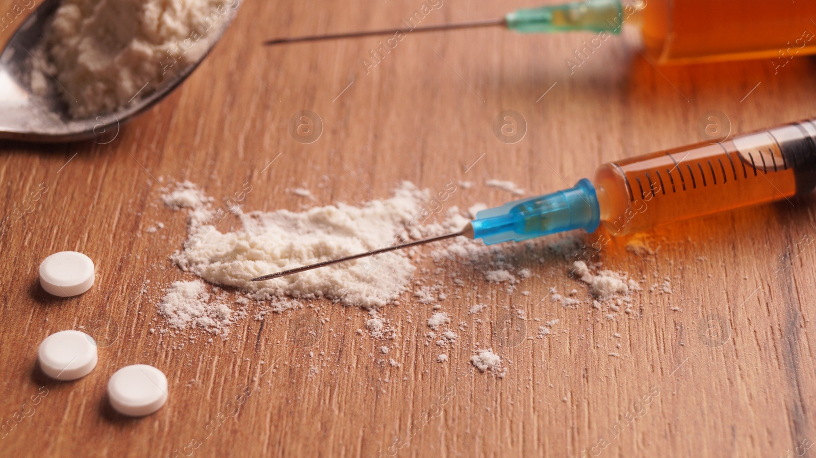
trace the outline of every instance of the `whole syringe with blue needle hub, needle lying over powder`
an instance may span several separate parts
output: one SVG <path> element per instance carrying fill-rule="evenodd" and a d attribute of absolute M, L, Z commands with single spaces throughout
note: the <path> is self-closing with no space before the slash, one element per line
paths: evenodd
<path fill-rule="evenodd" d="M 816 119 L 602 164 L 592 182 L 477 213 L 462 231 L 331 259 L 252 280 L 269 280 L 336 262 L 456 236 L 486 244 L 562 231 L 613 236 L 747 205 L 787 199 L 816 187 Z"/>

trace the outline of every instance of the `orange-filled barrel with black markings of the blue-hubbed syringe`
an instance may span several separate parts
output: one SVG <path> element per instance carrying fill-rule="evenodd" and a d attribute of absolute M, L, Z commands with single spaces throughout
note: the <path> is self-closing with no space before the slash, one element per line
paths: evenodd
<path fill-rule="evenodd" d="M 616 236 L 790 198 L 816 187 L 816 120 L 606 163 L 593 183 Z"/>

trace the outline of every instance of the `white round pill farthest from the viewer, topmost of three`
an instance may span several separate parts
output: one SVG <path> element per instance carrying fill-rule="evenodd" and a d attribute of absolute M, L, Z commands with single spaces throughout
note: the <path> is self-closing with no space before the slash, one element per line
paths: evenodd
<path fill-rule="evenodd" d="M 42 289 L 59 297 L 85 293 L 94 284 L 94 262 L 76 251 L 51 254 L 40 264 Z"/>

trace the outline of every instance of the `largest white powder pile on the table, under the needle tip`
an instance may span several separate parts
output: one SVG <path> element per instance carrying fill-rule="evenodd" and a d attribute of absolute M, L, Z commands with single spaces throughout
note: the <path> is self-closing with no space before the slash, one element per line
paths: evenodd
<path fill-rule="evenodd" d="M 240 288 L 260 301 L 326 297 L 365 308 L 384 306 L 407 290 L 415 266 L 406 253 L 384 253 L 274 280 L 249 280 L 409 240 L 406 227 L 416 222 L 422 202 L 429 199 L 428 192 L 403 183 L 390 199 L 361 207 L 338 204 L 303 213 L 241 214 L 242 229 L 222 233 L 211 225 L 210 200 L 201 196 L 187 183 L 164 196 L 171 205 L 175 200 L 181 204 L 175 206 L 193 205 L 189 238 L 172 256 L 184 271 L 211 284 Z"/>

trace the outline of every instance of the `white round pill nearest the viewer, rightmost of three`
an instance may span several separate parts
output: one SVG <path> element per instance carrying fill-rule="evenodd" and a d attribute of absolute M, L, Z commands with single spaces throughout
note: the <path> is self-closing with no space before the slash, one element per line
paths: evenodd
<path fill-rule="evenodd" d="M 150 415 L 167 400 L 167 377 L 147 364 L 126 366 L 110 377 L 108 398 L 122 415 Z"/>

